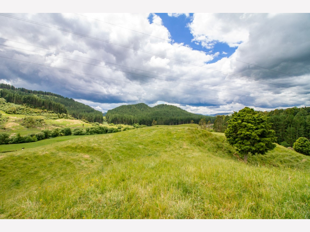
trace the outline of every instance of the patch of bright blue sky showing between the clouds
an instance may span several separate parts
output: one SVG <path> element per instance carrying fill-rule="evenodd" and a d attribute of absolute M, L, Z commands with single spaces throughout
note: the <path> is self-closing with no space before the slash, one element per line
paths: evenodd
<path fill-rule="evenodd" d="M 179 15 L 178 17 L 169 16 L 168 13 L 155 13 L 158 15 L 163 22 L 163 25 L 168 29 L 170 32 L 171 38 L 176 43 L 184 43 L 184 45 L 188 45 L 192 48 L 199 49 L 202 51 L 210 52 L 215 54 L 219 52 L 220 56 L 215 57 L 212 61 L 206 63 L 214 63 L 220 59 L 225 57 L 229 57 L 231 54 L 235 52 L 237 47 L 229 47 L 226 43 L 216 42 L 214 48 L 206 49 L 201 46 L 201 43 L 195 43 L 192 41 L 193 35 L 190 32 L 190 28 L 188 24 L 193 21 L 193 13 L 189 13 L 189 16 L 185 14 Z M 150 14 L 148 20 L 152 23 L 153 16 Z"/>

